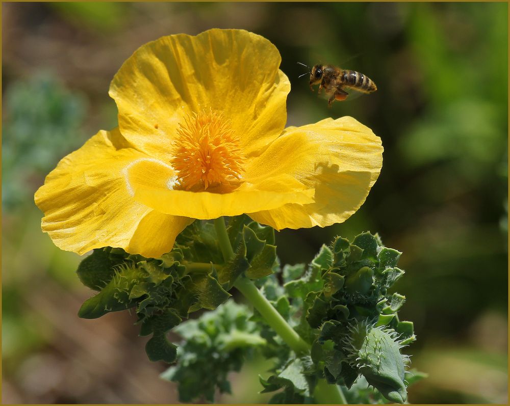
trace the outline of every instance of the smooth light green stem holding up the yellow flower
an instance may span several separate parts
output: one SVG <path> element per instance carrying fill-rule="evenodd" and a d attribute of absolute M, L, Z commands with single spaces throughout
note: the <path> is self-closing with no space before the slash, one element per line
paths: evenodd
<path fill-rule="evenodd" d="M 234 250 L 226 232 L 225 221 L 222 217 L 214 220 L 214 227 L 218 235 L 221 253 L 226 261 L 234 257 Z M 307 355 L 310 353 L 310 345 L 304 341 L 281 314 L 269 303 L 266 297 L 257 289 L 248 278 L 241 276 L 237 278 L 234 286 L 244 297 L 256 308 L 271 328 L 285 341 L 285 343 L 296 353 L 296 355 Z M 345 404 L 345 396 L 338 385 L 329 385 L 326 380 L 320 379 L 315 387 L 314 397 L 318 403 Z"/>

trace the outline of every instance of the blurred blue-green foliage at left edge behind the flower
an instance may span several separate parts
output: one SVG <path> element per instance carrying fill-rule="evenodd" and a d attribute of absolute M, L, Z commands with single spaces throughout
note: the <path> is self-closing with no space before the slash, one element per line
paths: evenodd
<path fill-rule="evenodd" d="M 83 137 L 86 99 L 53 75 L 40 74 L 8 86 L 2 123 L 2 205 L 33 200 L 32 187 Z"/>

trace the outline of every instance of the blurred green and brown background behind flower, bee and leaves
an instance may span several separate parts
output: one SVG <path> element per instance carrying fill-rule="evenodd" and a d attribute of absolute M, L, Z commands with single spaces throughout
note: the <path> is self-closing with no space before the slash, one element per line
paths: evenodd
<path fill-rule="evenodd" d="M 91 292 L 80 258 L 40 231 L 33 193 L 59 159 L 116 126 L 109 82 L 145 42 L 209 28 L 263 35 L 289 76 L 288 125 L 350 115 L 378 134 L 384 165 L 343 224 L 277 234 L 284 263 L 308 262 L 335 235 L 379 232 L 403 252 L 397 290 L 429 374 L 412 403 L 506 403 L 506 3 L 3 3 L 2 299 L 4 403 L 175 403 L 133 316 L 79 319 Z M 378 91 L 346 102 L 310 92 L 304 68 L 367 74 Z M 232 396 L 264 401 L 257 373 Z M 267 398 L 267 397 L 266 397 Z"/>

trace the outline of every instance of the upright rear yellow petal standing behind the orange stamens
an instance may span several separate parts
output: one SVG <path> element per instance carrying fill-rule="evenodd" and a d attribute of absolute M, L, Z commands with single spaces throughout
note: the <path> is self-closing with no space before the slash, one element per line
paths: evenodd
<path fill-rule="evenodd" d="M 276 47 L 244 30 L 162 37 L 141 46 L 110 85 L 122 135 L 147 154 L 170 161 L 183 117 L 221 111 L 247 156 L 282 132 L 290 83 Z"/>

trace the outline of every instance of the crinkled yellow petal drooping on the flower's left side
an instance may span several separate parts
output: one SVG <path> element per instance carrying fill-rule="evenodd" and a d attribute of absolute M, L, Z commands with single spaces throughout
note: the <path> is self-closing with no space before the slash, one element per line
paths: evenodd
<path fill-rule="evenodd" d="M 155 211 L 133 199 L 131 167 L 154 158 L 130 147 L 118 129 L 99 131 L 64 157 L 35 194 L 42 230 L 55 245 L 84 254 L 101 247 L 158 257 L 193 219 Z"/>

